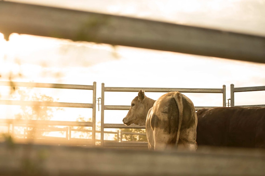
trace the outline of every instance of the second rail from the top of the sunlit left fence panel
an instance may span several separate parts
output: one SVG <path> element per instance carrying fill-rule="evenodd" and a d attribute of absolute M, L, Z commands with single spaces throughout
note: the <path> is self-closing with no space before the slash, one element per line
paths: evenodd
<path fill-rule="evenodd" d="M 63 103 L 63 102 L 45 102 L 45 101 L 0 100 L 0 104 L 19 105 L 19 106 L 93 108 L 92 103 Z"/>

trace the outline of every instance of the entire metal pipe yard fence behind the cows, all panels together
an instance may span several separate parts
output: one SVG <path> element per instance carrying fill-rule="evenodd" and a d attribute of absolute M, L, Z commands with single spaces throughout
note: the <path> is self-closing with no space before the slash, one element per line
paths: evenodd
<path fill-rule="evenodd" d="M 93 103 L 62 103 L 62 102 L 36 102 L 36 101 L 20 101 L 20 100 L 0 100 L 2 105 L 27 105 L 27 106 L 50 106 L 50 107 L 82 107 L 82 108 L 93 108 L 96 107 L 96 82 L 93 85 L 74 85 L 74 84 L 48 84 L 48 83 L 25 83 L 25 82 L 10 82 L 0 81 L 0 86 L 10 87 L 38 87 L 38 88 L 67 88 L 67 89 L 85 89 L 93 90 Z M 138 92 L 143 89 L 145 92 L 171 92 L 179 91 L 186 93 L 222 93 L 223 94 L 223 107 L 226 106 L 226 86 L 223 88 L 129 88 L 129 87 L 105 87 L 105 84 L 101 84 L 101 130 L 95 130 L 95 119 L 96 114 L 93 110 L 92 122 L 69 122 L 69 121 L 49 121 L 49 120 L 22 120 L 22 119 L 0 119 L 0 126 L 6 126 L 7 131 L 12 135 L 14 140 L 18 143 L 27 143 L 28 139 L 34 133 L 34 130 L 38 129 L 38 132 L 54 132 L 58 131 L 64 133 L 65 137 L 48 137 L 44 135 L 37 136 L 34 133 L 34 142 L 39 144 L 45 144 L 45 140 L 51 144 L 78 144 L 78 145 L 95 145 L 96 142 L 100 142 L 101 146 L 104 147 L 147 147 L 147 142 L 137 141 L 125 141 L 123 135 L 145 135 L 145 133 L 133 133 L 117 130 L 114 132 L 104 131 L 104 129 L 145 129 L 145 126 L 129 125 L 124 124 L 107 124 L 104 123 L 104 110 L 129 110 L 130 106 L 124 105 L 105 105 L 105 92 Z M 241 87 L 235 88 L 234 84 L 231 84 L 231 107 L 234 106 L 234 93 L 235 92 L 248 92 L 248 91 L 264 91 L 265 86 L 257 87 Z M 246 105 L 237 107 L 265 107 L 265 105 Z M 195 107 L 196 110 L 203 108 L 212 107 Z M 16 134 L 15 127 L 25 127 L 23 134 Z M 55 127 L 56 126 L 56 127 Z M 59 126 L 59 127 L 58 127 Z M 92 127 L 92 130 L 88 129 L 76 129 L 73 127 Z M 91 133 L 92 139 L 80 139 L 73 138 L 72 132 L 84 132 Z M 95 139 L 95 134 L 100 133 L 101 139 Z M 117 139 L 115 140 L 104 140 L 104 134 L 115 134 Z M 104 142 L 102 142 L 104 140 Z"/>

